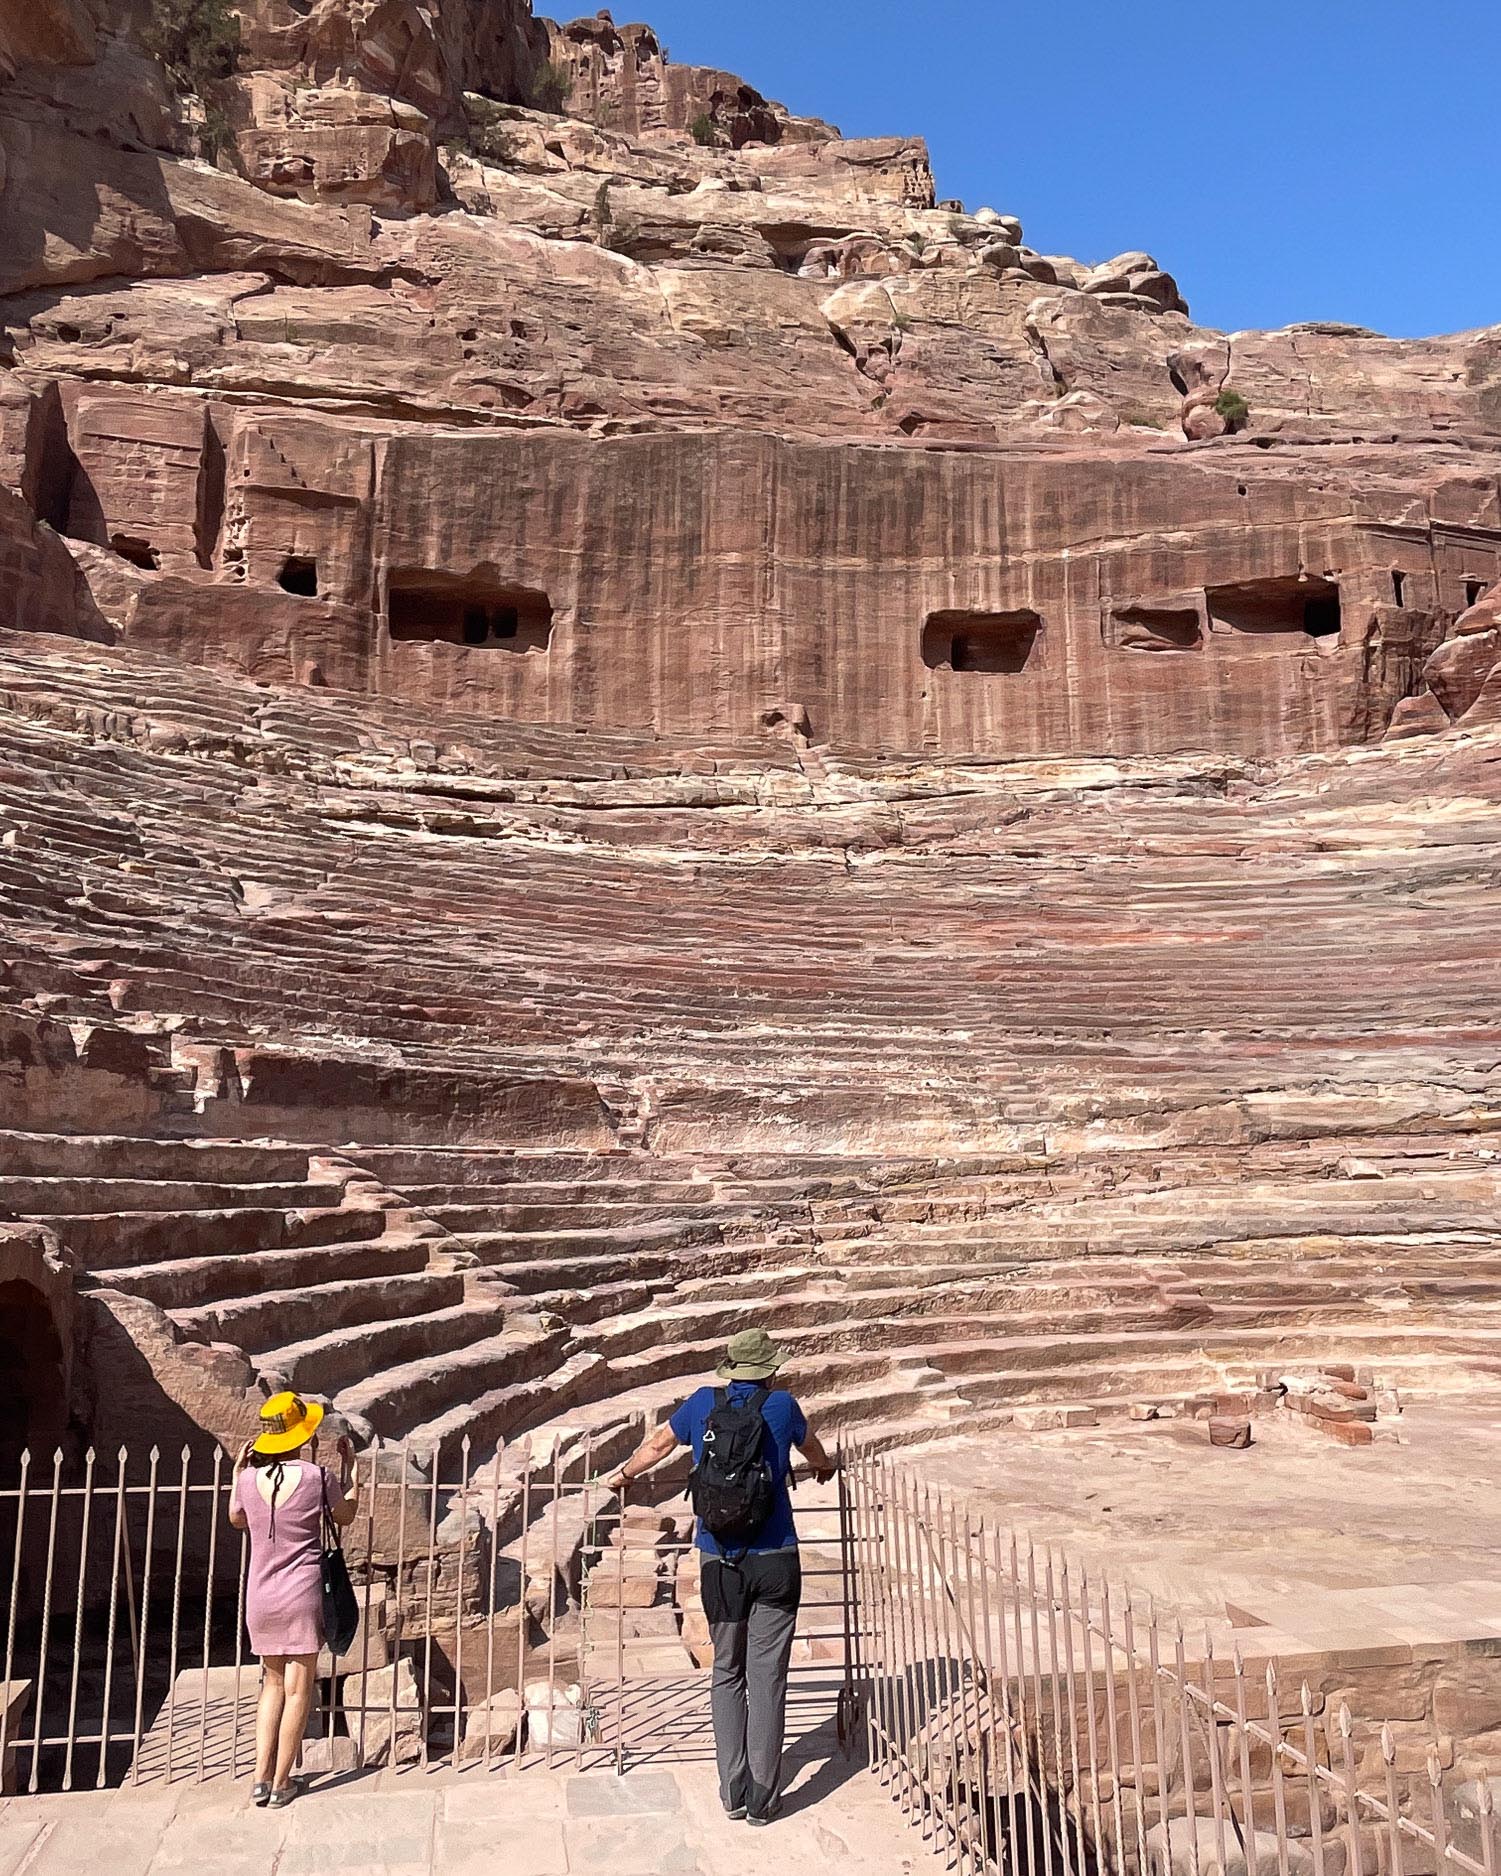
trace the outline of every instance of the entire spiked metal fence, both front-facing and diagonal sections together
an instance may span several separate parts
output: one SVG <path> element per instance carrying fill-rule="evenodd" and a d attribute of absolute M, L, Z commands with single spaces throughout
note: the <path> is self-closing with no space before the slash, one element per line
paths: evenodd
<path fill-rule="evenodd" d="M 403 1448 L 360 1461 L 362 1621 L 319 1662 L 310 1769 L 627 1771 L 674 1726 L 705 1748 L 687 1512 L 597 1478 L 642 1431 L 484 1465 L 465 1446 L 447 1478 Z M 229 1497 L 225 1456 L 190 1450 L 26 1458 L 0 1488 L 8 1790 L 250 1773 Z M 797 1510 L 807 1698 L 961 1876 L 1497 1876 L 1486 1778 L 1413 1765 L 1379 1717 L 1195 1645 L 889 1456 L 846 1452 L 835 1495 Z"/>

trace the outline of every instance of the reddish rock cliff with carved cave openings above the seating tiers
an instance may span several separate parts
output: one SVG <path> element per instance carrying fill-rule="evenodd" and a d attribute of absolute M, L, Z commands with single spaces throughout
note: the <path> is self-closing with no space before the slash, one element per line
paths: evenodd
<path fill-rule="evenodd" d="M 608 13 L 253 0 L 203 99 L 124 9 L 6 32 L 30 628 L 538 722 L 794 694 L 878 750 L 1493 707 L 1501 332 L 1197 328 L 1152 253 L 940 208 L 921 143 Z"/>

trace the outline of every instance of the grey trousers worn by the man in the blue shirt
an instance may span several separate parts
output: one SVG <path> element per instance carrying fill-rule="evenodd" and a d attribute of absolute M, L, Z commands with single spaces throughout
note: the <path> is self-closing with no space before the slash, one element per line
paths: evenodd
<path fill-rule="evenodd" d="M 704 1559 L 704 1615 L 715 1645 L 709 1702 L 726 1810 L 766 1812 L 782 1777 L 786 1670 L 803 1595 L 796 1550 Z"/>

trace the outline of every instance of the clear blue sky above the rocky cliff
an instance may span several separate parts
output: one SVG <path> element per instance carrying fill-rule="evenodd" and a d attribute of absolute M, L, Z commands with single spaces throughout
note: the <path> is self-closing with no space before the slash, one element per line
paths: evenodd
<path fill-rule="evenodd" d="M 538 0 L 538 11 L 546 11 Z M 1043 253 L 1146 248 L 1205 325 L 1501 323 L 1495 0 L 640 0 L 674 58 L 850 135 Z"/>

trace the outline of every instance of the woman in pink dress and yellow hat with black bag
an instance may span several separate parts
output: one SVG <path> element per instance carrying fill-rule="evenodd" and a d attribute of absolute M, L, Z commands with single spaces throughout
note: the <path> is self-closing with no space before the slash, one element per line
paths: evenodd
<path fill-rule="evenodd" d="M 358 1510 L 355 1450 L 338 1443 L 340 1478 L 317 1463 L 323 1407 L 272 1394 L 261 1433 L 235 1461 L 229 1521 L 250 1531 L 246 1628 L 261 1657 L 255 1707 L 255 1803 L 280 1808 L 296 1795 L 293 1769 L 313 1705 L 323 1647 L 323 1506 L 336 1525 Z M 306 1448 L 306 1461 L 300 1458 Z"/>

